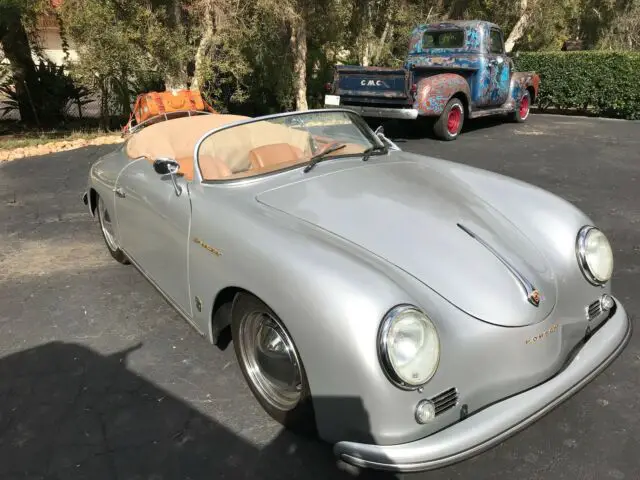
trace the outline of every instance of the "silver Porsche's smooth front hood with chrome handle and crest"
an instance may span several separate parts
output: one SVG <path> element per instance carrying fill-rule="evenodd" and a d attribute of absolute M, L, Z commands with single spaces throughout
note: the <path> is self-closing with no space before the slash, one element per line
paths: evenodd
<path fill-rule="evenodd" d="M 435 162 L 390 161 L 316 175 L 257 200 L 368 250 L 480 320 L 542 321 L 556 302 L 554 272 L 535 239 L 473 191 Z M 540 292 L 537 307 L 523 279 Z"/>

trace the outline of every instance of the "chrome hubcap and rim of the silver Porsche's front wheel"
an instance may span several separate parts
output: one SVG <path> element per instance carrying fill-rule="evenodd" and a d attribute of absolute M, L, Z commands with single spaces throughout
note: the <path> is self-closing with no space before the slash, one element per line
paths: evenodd
<path fill-rule="evenodd" d="M 241 321 L 238 341 L 260 396 L 279 410 L 295 408 L 302 391 L 300 360 L 282 325 L 267 313 L 251 313 Z"/>

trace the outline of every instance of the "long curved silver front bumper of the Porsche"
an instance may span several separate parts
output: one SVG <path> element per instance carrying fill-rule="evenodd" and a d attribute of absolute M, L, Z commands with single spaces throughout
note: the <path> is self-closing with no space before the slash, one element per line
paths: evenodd
<path fill-rule="evenodd" d="M 338 442 L 334 453 L 359 467 L 394 472 L 433 470 L 477 455 L 534 423 L 605 370 L 624 350 L 632 324 L 617 310 L 562 372 L 433 435 L 401 445 Z"/>

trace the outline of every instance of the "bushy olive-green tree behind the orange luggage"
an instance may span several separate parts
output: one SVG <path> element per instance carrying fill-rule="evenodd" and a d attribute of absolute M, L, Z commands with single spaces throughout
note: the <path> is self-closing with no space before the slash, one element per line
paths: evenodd
<path fill-rule="evenodd" d="M 106 115 L 128 115 L 137 90 L 164 88 L 185 74 L 190 51 L 171 2 L 66 0 L 60 10 L 65 32 L 80 61 L 73 73 L 98 90 Z"/>

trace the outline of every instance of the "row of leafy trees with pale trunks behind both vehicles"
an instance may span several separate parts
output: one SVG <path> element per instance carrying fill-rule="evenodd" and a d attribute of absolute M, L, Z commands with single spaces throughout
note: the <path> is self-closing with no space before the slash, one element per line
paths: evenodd
<path fill-rule="evenodd" d="M 0 39 L 18 18 L 37 50 L 47 4 L 0 0 Z M 640 0 L 64 0 L 58 16 L 79 55 L 67 67 L 101 94 L 105 116 L 165 87 L 198 88 L 221 111 L 315 107 L 333 65 L 400 66 L 409 33 L 430 21 L 490 20 L 521 51 L 558 51 L 575 38 L 588 49 L 640 49 Z M 14 67 L 21 78 L 35 69 L 24 63 Z"/>

